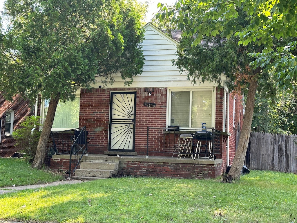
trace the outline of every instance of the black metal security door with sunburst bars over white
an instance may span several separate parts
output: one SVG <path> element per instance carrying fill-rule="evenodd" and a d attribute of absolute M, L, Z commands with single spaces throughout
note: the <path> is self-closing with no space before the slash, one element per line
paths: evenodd
<path fill-rule="evenodd" d="M 133 152 L 136 92 L 111 92 L 109 151 Z"/>

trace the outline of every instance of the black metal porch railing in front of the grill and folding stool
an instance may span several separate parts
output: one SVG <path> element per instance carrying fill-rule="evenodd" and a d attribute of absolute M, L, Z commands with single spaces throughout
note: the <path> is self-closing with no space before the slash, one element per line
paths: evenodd
<path fill-rule="evenodd" d="M 221 132 L 214 128 L 186 129 L 148 126 L 146 156 L 155 154 L 177 158 L 216 159 L 222 154 L 220 136 Z"/>

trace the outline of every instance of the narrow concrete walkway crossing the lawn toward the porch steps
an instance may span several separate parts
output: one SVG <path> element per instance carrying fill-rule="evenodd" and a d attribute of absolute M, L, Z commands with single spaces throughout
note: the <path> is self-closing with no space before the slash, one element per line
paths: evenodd
<path fill-rule="evenodd" d="M 17 186 L 17 187 L 2 187 L 2 188 L 0 188 L 0 194 L 16 192 L 16 191 L 25 190 L 25 189 L 38 189 L 38 188 L 43 188 L 43 187 L 48 187 L 48 186 L 83 183 L 83 182 L 87 182 L 87 181 L 89 181 L 89 180 L 62 180 L 62 181 L 55 181 L 55 182 L 46 183 L 46 184 L 26 185 L 26 186 Z"/>

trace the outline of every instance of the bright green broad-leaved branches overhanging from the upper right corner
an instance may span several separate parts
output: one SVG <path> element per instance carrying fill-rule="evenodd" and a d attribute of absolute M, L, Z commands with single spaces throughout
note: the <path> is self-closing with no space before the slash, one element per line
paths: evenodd
<path fill-rule="evenodd" d="M 247 51 L 254 58 L 253 69 L 273 70 L 278 85 L 292 89 L 292 79 L 297 78 L 296 60 L 296 2 L 270 0 L 179 0 L 174 7 L 158 4 L 157 18 L 172 17 L 176 28 L 184 31 L 184 37 L 194 37 L 192 47 L 207 37 L 238 38 L 241 46 L 259 46 L 258 52 Z M 246 14 L 246 23 L 236 19 Z M 284 41 L 275 45 L 275 40 Z M 262 47 L 261 47 L 262 46 Z"/>

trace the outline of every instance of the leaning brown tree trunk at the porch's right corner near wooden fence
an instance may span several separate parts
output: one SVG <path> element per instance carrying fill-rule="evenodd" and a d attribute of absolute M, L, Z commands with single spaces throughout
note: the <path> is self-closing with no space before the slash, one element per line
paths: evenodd
<path fill-rule="evenodd" d="M 252 79 L 249 83 L 247 104 L 245 106 L 244 120 L 239 137 L 238 147 L 235 152 L 232 167 L 230 168 L 230 171 L 227 175 L 228 181 L 238 180 L 240 178 L 242 166 L 247 153 L 247 146 L 249 144 L 257 86 L 257 80 Z"/>

